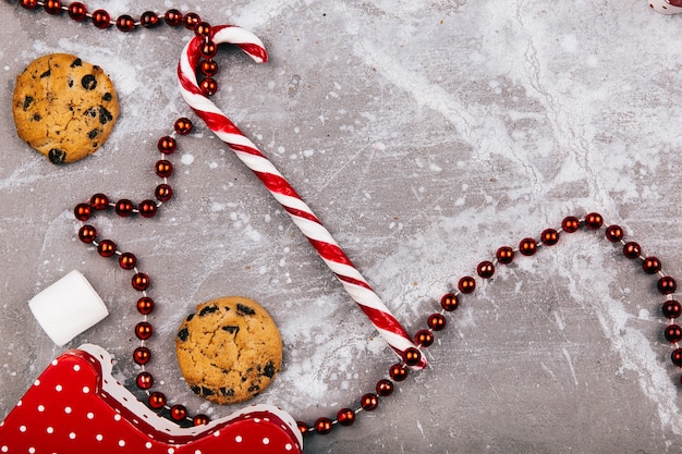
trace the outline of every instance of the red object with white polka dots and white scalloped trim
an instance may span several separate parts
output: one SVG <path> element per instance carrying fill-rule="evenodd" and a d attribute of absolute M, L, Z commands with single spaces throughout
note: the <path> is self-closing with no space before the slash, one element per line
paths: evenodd
<path fill-rule="evenodd" d="M 109 422 L 107 422 L 109 421 Z M 84 345 L 42 372 L 0 424 L 0 453 L 301 453 L 294 419 L 254 405 L 197 428 L 149 410 L 111 377 L 111 357 Z"/>

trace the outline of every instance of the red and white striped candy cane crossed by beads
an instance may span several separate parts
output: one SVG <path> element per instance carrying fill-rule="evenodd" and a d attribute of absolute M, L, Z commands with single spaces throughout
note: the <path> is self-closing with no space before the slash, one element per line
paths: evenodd
<path fill-rule="evenodd" d="M 258 63 L 268 59 L 260 39 L 243 28 L 221 25 L 214 27 L 212 34 L 214 42 L 236 45 Z M 365 278 L 353 266 L 345 253 L 331 237 L 331 234 L 284 176 L 234 123 L 202 94 L 196 78 L 196 68 L 202 58 L 200 49 L 204 39 L 204 37 L 194 37 L 187 42 L 180 58 L 178 78 L 182 97 L 208 127 L 260 179 L 277 201 L 291 216 L 301 232 L 308 238 L 325 263 L 337 275 L 345 291 L 369 318 L 377 331 L 398 356 L 403 358 L 407 348 L 415 347 L 405 329 L 372 290 Z M 426 367 L 426 359 L 422 357 L 419 364 L 414 367 L 422 369 Z"/>

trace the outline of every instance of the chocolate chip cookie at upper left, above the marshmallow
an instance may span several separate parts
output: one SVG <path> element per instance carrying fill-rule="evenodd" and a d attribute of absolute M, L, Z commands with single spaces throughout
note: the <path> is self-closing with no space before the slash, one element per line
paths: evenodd
<path fill-rule="evenodd" d="M 56 163 L 96 151 L 119 118 L 119 100 L 101 68 L 68 53 L 34 60 L 16 77 L 16 133 Z"/>

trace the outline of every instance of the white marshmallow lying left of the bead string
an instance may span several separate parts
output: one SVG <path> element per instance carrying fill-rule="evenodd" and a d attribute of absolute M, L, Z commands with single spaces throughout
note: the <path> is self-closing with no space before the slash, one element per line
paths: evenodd
<path fill-rule="evenodd" d="M 71 271 L 28 302 L 47 335 L 59 346 L 109 315 L 107 306 L 80 271 Z"/>

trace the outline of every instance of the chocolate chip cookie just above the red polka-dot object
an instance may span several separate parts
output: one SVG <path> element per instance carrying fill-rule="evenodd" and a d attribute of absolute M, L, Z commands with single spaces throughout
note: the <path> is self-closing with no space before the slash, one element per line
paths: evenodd
<path fill-rule="evenodd" d="M 178 363 L 196 394 L 218 404 L 263 392 L 282 365 L 282 340 L 256 302 L 230 296 L 196 307 L 175 336 Z"/>

